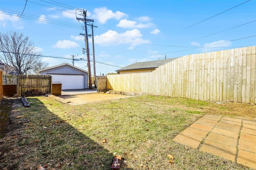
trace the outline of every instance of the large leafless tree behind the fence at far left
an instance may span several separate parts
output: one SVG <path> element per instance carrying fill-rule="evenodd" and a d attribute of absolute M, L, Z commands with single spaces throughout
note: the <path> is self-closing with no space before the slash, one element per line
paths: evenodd
<path fill-rule="evenodd" d="M 40 61 L 40 53 L 35 51 L 34 43 L 19 32 L 0 33 L 0 60 L 16 73 L 32 71 Z"/>

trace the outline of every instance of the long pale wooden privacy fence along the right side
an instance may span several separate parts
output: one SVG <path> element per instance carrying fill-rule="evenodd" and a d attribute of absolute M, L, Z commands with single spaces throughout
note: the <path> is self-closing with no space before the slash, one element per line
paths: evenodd
<path fill-rule="evenodd" d="M 107 89 L 256 104 L 255 46 L 185 55 L 149 73 L 107 75 Z"/>

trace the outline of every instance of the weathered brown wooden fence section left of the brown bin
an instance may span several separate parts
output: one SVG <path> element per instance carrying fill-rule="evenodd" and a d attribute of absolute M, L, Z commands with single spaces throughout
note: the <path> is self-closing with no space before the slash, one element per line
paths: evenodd
<path fill-rule="evenodd" d="M 17 87 L 18 97 L 31 90 L 51 93 L 52 78 L 50 75 L 18 75 Z"/>

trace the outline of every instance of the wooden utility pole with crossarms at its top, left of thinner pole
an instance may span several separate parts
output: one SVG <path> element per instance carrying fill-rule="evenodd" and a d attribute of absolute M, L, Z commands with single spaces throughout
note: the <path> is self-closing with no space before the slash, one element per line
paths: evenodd
<path fill-rule="evenodd" d="M 83 10 L 84 18 L 76 18 L 76 20 L 82 20 L 84 22 L 84 31 L 85 31 L 85 46 L 86 46 L 86 55 L 87 55 L 87 63 L 88 63 L 88 77 L 89 77 L 89 89 L 92 89 L 92 73 L 91 73 L 91 64 L 90 64 L 90 52 L 89 52 L 89 44 L 88 44 L 88 34 L 87 34 L 87 22 L 94 22 L 94 20 L 86 19 L 86 11 Z"/>

